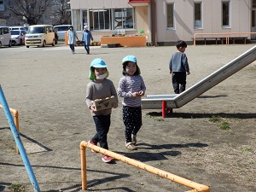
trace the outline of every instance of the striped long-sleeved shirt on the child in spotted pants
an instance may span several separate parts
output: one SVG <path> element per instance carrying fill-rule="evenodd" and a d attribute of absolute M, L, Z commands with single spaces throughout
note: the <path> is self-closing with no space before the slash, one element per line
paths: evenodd
<path fill-rule="evenodd" d="M 141 96 L 132 96 L 133 92 L 140 90 L 146 91 L 146 86 L 141 75 L 125 75 L 119 80 L 118 95 L 123 97 L 122 104 L 129 107 L 140 107 L 142 104 Z"/>

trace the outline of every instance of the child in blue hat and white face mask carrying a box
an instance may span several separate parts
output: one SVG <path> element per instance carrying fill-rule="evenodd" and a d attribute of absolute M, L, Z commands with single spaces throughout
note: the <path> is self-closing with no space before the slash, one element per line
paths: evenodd
<path fill-rule="evenodd" d="M 107 98 L 114 96 L 115 102 L 113 102 L 112 107 L 118 107 L 118 96 L 114 88 L 113 82 L 108 78 L 108 69 L 105 61 L 101 58 L 96 58 L 90 64 L 90 74 L 89 79 L 91 80 L 87 84 L 85 101 L 90 108 L 91 116 L 96 125 L 96 135 L 92 137 L 89 141 L 90 144 L 97 145 L 100 144 L 101 148 L 108 149 L 107 134 L 110 127 L 110 115 L 112 108 L 107 108 L 104 110 L 97 111 L 94 101 L 96 99 Z M 95 152 L 94 150 L 91 150 Z M 102 154 L 102 160 L 106 163 L 111 162 L 113 158 Z"/>

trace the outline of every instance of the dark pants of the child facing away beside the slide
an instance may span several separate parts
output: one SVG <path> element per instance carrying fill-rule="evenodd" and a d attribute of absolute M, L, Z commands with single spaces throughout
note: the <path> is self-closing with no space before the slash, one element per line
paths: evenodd
<path fill-rule="evenodd" d="M 172 86 L 176 94 L 186 90 L 186 78 L 187 74 L 185 72 L 172 72 Z"/>

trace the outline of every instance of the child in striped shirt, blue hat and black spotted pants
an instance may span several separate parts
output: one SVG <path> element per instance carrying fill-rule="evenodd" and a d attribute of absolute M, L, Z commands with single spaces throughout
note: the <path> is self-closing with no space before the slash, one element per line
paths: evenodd
<path fill-rule="evenodd" d="M 123 75 L 119 79 L 118 95 L 123 97 L 123 122 L 125 124 L 125 147 L 128 150 L 137 150 L 137 132 L 142 122 L 142 96 L 146 86 L 137 66 L 137 58 L 127 55 L 122 60 Z"/>

